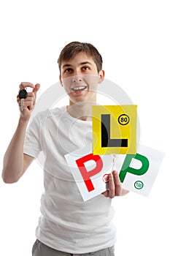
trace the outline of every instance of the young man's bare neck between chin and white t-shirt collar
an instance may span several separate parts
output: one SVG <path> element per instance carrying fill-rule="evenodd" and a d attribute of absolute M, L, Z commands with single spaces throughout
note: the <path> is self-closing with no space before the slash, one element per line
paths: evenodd
<path fill-rule="evenodd" d="M 96 105 L 96 102 L 78 102 L 77 104 L 67 106 L 67 111 L 74 118 L 82 121 L 91 121 L 92 105 Z"/>

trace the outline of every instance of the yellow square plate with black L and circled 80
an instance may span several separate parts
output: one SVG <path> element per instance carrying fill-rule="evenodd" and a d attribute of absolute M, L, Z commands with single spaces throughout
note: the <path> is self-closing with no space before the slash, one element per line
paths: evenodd
<path fill-rule="evenodd" d="M 93 154 L 136 154 L 136 105 L 93 105 Z"/>

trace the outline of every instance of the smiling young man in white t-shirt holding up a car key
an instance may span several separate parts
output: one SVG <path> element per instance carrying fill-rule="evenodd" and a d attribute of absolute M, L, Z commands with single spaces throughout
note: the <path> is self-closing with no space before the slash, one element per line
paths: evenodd
<path fill-rule="evenodd" d="M 84 202 L 64 158 L 91 143 L 91 106 L 96 105 L 97 86 L 104 80 L 102 58 L 93 45 L 71 42 L 61 51 L 58 66 L 69 105 L 37 114 L 26 133 L 40 85 L 20 84 L 20 89 L 31 87 L 32 92 L 20 109 L 18 127 L 4 155 L 2 177 L 6 183 L 18 181 L 39 152 L 45 154 L 45 193 L 34 256 L 114 255 L 112 198 L 127 193 L 118 173 L 109 175 L 103 195 Z M 19 107 L 20 102 L 18 97 Z"/>

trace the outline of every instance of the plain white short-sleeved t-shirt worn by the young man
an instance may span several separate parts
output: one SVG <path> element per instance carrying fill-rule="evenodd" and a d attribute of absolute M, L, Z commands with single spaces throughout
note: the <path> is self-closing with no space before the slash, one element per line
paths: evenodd
<path fill-rule="evenodd" d="M 24 153 L 44 169 L 36 237 L 63 252 L 95 252 L 115 244 L 112 200 L 98 195 L 84 202 L 64 158 L 91 141 L 92 122 L 73 118 L 66 107 L 38 113 L 26 133 Z"/>

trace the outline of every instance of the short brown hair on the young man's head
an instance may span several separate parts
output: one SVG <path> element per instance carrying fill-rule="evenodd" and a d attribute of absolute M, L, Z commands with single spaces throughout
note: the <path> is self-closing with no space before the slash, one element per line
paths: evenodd
<path fill-rule="evenodd" d="M 98 50 L 88 42 L 70 42 L 66 45 L 63 50 L 61 50 L 61 54 L 58 58 L 58 67 L 61 72 L 61 62 L 62 61 L 69 61 L 76 56 L 77 53 L 84 52 L 88 56 L 93 58 L 93 61 L 96 64 L 98 72 L 102 69 L 103 60 L 101 54 L 98 53 Z"/>

